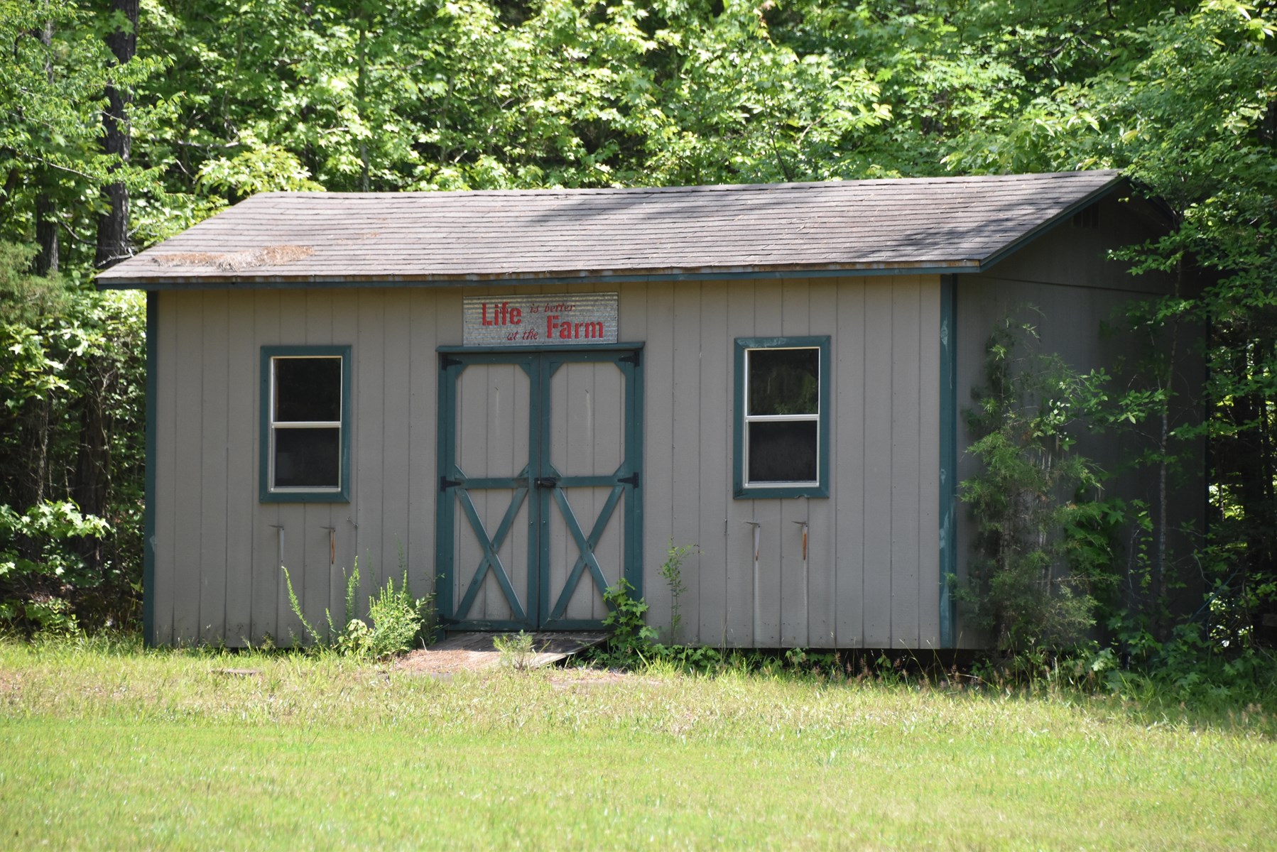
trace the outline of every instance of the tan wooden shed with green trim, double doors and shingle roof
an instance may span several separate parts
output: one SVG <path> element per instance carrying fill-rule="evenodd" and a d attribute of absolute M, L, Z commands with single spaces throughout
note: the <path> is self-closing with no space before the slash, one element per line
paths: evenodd
<path fill-rule="evenodd" d="M 1116 172 L 266 193 L 98 276 L 147 291 L 146 637 L 258 644 L 406 568 L 448 630 L 951 648 L 960 407 L 1008 305 L 1078 368 L 1165 282 Z M 969 464 L 969 462 L 963 462 Z"/>

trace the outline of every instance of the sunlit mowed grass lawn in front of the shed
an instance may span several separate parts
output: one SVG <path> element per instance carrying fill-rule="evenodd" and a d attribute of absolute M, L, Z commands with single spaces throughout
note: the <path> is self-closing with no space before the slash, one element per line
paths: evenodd
<path fill-rule="evenodd" d="M 0 847 L 1274 848 L 1273 710 L 0 643 Z"/>

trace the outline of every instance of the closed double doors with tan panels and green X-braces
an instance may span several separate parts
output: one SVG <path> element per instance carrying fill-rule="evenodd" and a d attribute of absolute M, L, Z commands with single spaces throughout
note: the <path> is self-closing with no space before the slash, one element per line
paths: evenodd
<path fill-rule="evenodd" d="M 642 594 L 642 350 L 441 350 L 441 623 L 594 630 Z"/>

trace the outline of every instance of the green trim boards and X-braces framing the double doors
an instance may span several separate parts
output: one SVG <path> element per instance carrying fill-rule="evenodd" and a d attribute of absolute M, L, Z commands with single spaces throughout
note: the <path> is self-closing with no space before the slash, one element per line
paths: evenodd
<path fill-rule="evenodd" d="M 622 524 L 622 576 L 642 594 L 642 345 L 603 345 L 562 347 L 484 347 L 441 346 L 438 406 L 439 499 L 435 503 L 435 566 L 439 574 L 435 605 L 446 630 L 598 630 L 601 620 L 568 618 L 567 607 L 581 582 L 593 584 L 601 594 L 608 581 L 594 556 L 603 533 Z M 621 465 L 607 474 L 563 475 L 550 462 L 550 379 L 564 364 L 614 364 L 623 382 L 623 441 Z M 461 373 L 480 364 L 520 367 L 529 379 L 529 457 L 511 476 L 466 476 L 457 457 L 457 383 Z M 603 508 L 593 517 L 578 517 L 568 498 L 572 488 L 610 488 Z M 510 491 L 512 497 L 501 513 L 497 529 L 489 533 L 475 511 L 472 491 Z M 529 542 L 526 553 L 526 594 L 513 588 L 499 551 L 520 510 L 527 506 Z M 457 510 L 483 552 L 479 565 L 460 566 L 456 559 Z M 617 517 L 619 511 L 619 519 Z M 550 588 L 550 519 L 559 516 L 570 543 L 576 548 L 567 577 L 558 589 Z M 567 553 L 571 557 L 571 551 Z M 471 567 L 474 571 L 470 572 Z M 457 575 L 458 571 L 467 574 Z M 484 581 L 494 577 L 511 612 L 511 618 L 474 618 L 470 608 Z M 457 600 L 457 580 L 464 591 Z"/>

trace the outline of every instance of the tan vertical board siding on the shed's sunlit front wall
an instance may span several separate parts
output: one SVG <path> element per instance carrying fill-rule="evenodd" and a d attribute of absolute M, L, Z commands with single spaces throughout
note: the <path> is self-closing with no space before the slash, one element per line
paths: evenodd
<path fill-rule="evenodd" d="M 729 646 L 939 645 L 937 276 L 549 285 L 618 290 L 619 337 L 644 342 L 644 593 L 683 566 L 681 641 Z M 155 640 L 287 641 L 398 576 L 433 588 L 438 346 L 461 342 L 462 295 L 510 287 L 165 291 L 158 299 Z M 827 498 L 733 499 L 733 341 L 829 335 Z M 261 347 L 352 347 L 351 502 L 257 497 Z M 802 524 L 808 553 L 802 553 Z M 757 577 L 753 526 L 760 529 Z M 336 540 L 329 566 L 328 536 Z M 755 588 L 759 599 L 755 600 Z"/>

